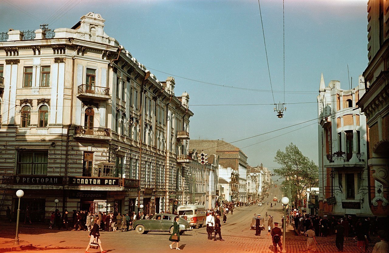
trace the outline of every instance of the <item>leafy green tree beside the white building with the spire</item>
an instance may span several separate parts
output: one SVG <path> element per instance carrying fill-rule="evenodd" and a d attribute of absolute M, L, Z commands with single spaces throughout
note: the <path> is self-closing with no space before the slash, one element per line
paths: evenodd
<path fill-rule="evenodd" d="M 319 168 L 293 143 L 285 148 L 285 152 L 278 150 L 274 161 L 281 165 L 281 168 L 274 169 L 274 173 L 285 179 L 282 182 L 285 187 L 290 183 L 293 199 L 303 199 L 307 188 L 319 184 Z"/>

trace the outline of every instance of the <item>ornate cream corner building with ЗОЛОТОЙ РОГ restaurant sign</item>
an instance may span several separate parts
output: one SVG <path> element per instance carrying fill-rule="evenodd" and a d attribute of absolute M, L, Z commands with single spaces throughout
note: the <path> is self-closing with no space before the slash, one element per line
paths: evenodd
<path fill-rule="evenodd" d="M 72 28 L 0 36 L 0 215 L 172 211 L 189 95 L 159 81 L 89 12 Z M 140 205 L 143 204 L 143 209 Z"/>

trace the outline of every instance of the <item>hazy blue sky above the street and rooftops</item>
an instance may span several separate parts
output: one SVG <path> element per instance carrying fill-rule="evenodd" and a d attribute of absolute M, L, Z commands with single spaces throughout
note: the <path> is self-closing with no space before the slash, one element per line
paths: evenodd
<path fill-rule="evenodd" d="M 273 169 L 290 143 L 318 162 L 321 73 L 349 89 L 368 64 L 367 1 L 284 0 L 285 33 L 282 6 L 260 0 L 269 70 L 257 0 L 2 0 L 0 32 L 71 28 L 101 14 L 105 33 L 159 80 L 175 77 L 176 96 L 189 93 L 191 139 L 237 141 L 251 166 Z"/>

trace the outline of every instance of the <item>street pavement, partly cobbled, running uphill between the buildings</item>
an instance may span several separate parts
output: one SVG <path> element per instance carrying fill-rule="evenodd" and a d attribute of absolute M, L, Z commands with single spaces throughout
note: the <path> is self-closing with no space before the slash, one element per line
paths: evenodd
<path fill-rule="evenodd" d="M 272 191 L 276 189 L 273 188 Z M 271 192 L 269 196 L 273 196 L 275 192 Z M 277 192 L 279 194 L 279 192 Z M 280 195 L 280 194 L 279 194 Z M 271 202 L 271 199 L 265 199 Z M 222 236 L 225 241 L 209 241 L 205 228 L 194 229 L 186 232 L 181 236 L 180 248 L 186 252 L 204 252 L 206 248 L 212 252 L 259 252 L 271 253 L 274 252 L 271 236 L 267 235 L 267 231 L 262 231 L 261 236 L 255 236 L 255 231 L 250 229 L 250 223 L 254 213 L 265 216 L 273 215 L 274 222 L 281 222 L 282 207 L 278 203 L 277 206 L 270 208 L 265 203 L 263 206 L 246 206 L 236 209 L 233 215 L 229 214 L 227 223 L 222 223 Z M 5 237 L 5 241 L 11 242 L 14 239 L 15 223 L 12 223 L 12 228 L 7 227 L 7 223 L 0 225 L 0 236 Z M 43 228 L 43 225 L 23 225 L 20 229 L 21 244 L 25 241 L 32 243 L 35 247 L 32 251 L 44 251 L 46 253 L 83 253 L 88 245 L 88 232 L 84 231 L 58 231 L 55 229 Z M 267 221 L 265 221 L 267 227 Z M 306 237 L 296 236 L 293 232 L 293 227 L 287 228 L 286 248 L 288 253 L 300 253 L 306 249 Z M 135 231 L 130 232 L 100 232 L 103 249 L 109 252 L 171 252 L 169 248 L 168 233 L 149 232 L 148 234 L 137 234 Z M 3 239 L 3 238 L 2 238 Z M 377 241 L 376 237 L 372 237 L 373 241 L 370 244 L 372 249 Z M 4 241 L 2 241 L 4 242 Z M 318 237 L 317 242 L 318 252 L 333 253 L 338 252 L 335 247 L 335 237 Z M 158 249 L 158 250 L 156 250 Z M 26 250 L 27 251 L 27 250 Z M 18 251 L 18 252 L 26 252 Z M 28 250 L 31 251 L 31 250 Z M 358 252 L 356 242 L 352 238 L 345 241 L 345 252 Z M 98 250 L 89 250 L 89 252 L 99 252 Z"/>

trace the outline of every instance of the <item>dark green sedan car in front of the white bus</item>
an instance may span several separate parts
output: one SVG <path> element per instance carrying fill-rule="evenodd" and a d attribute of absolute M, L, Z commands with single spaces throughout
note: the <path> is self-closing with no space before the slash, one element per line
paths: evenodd
<path fill-rule="evenodd" d="M 175 216 L 171 213 L 158 213 L 152 216 L 150 220 L 136 220 L 133 227 L 138 234 L 147 234 L 149 231 L 169 231 L 171 234 L 173 233 Z M 180 234 L 192 230 L 189 222 L 183 218 L 179 218 L 178 224 L 180 225 Z"/>

